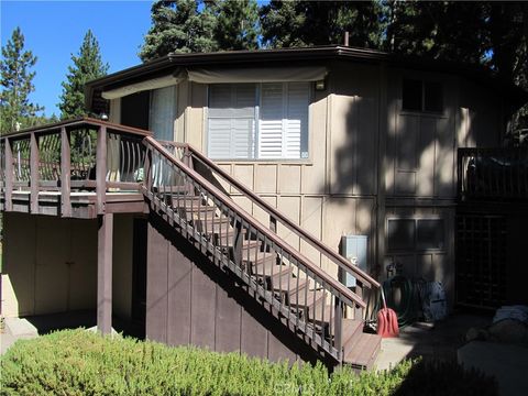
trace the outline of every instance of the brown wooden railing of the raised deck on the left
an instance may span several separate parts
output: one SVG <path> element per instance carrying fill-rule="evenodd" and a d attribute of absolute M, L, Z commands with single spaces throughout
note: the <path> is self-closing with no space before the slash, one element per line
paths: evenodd
<path fill-rule="evenodd" d="M 41 191 L 61 191 L 64 217 L 72 216 L 73 191 L 96 191 L 103 213 L 111 189 L 141 191 L 150 132 L 81 118 L 0 138 L 1 187 L 11 210 L 14 191 L 30 193 L 31 212 L 38 212 Z"/>

